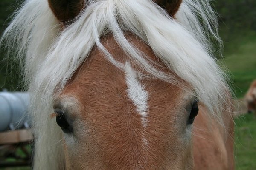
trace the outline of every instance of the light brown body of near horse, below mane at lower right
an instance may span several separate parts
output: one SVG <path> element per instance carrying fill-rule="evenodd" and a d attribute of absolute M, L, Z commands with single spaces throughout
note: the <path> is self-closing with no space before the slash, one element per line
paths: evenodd
<path fill-rule="evenodd" d="M 233 170 L 233 119 L 223 114 L 224 125 L 209 120 L 207 110 L 200 108 L 193 128 L 195 170 Z"/>

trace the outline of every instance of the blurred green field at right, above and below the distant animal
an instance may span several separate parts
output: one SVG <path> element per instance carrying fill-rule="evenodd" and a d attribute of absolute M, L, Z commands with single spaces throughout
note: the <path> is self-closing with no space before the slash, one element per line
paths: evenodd
<path fill-rule="evenodd" d="M 231 75 L 234 93 L 242 98 L 256 79 L 256 32 L 247 31 L 224 39 L 222 63 Z M 256 116 L 245 114 L 235 119 L 236 170 L 256 170 Z"/>

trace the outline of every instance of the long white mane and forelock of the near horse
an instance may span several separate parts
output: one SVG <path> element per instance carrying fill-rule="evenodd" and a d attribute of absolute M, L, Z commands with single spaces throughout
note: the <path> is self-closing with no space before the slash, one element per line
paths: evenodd
<path fill-rule="evenodd" d="M 151 0 L 85 0 L 87 8 L 67 28 L 61 28 L 47 0 L 27 0 L 16 12 L 1 40 L 23 60 L 25 82 L 31 93 L 36 153 L 34 169 L 57 170 L 63 161 L 61 131 L 56 128 L 52 99 L 96 45 L 119 68 L 100 42 L 111 32 L 138 65 L 154 77 L 176 83 L 146 62 L 143 54 L 125 39 L 130 31 L 144 40 L 166 66 L 190 83 L 212 116 L 220 119 L 227 85 L 212 57 L 209 37 L 218 42 L 216 17 L 207 0 L 183 0 L 176 20 Z M 198 19 L 200 17 L 200 19 Z M 204 28 L 204 29 L 203 29 Z M 183 88 L 183 87 L 182 87 Z M 63 165 L 64 166 L 64 165 Z"/>

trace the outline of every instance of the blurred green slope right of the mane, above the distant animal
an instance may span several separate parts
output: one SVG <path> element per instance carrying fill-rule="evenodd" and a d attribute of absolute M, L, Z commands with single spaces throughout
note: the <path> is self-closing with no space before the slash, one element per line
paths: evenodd
<path fill-rule="evenodd" d="M 241 98 L 256 79 L 256 32 L 236 33 L 232 40 L 224 40 L 224 47 L 222 62 L 232 74 L 236 96 Z"/>

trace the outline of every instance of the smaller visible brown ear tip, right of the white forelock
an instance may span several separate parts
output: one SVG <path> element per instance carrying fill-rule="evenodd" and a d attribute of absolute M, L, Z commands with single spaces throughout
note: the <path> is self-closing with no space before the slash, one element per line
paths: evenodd
<path fill-rule="evenodd" d="M 157 5 L 159 5 L 160 7 L 166 9 L 166 11 L 172 17 L 174 17 L 178 9 L 180 8 L 182 0 L 154 0 L 154 2 L 157 3 Z"/>

